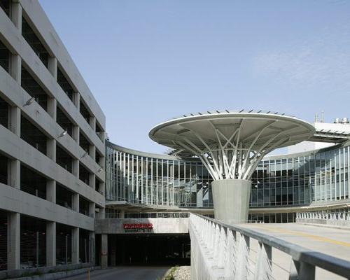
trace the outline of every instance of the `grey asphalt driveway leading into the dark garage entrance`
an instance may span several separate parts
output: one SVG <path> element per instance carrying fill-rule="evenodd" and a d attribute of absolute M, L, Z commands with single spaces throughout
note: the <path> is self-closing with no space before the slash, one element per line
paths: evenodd
<path fill-rule="evenodd" d="M 112 267 L 90 272 L 90 280 L 158 280 L 162 279 L 170 267 Z M 87 280 L 87 274 L 66 278 Z"/>

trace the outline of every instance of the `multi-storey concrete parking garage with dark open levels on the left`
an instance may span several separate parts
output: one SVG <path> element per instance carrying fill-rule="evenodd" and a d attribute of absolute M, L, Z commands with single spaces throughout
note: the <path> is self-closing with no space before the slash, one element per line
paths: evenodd
<path fill-rule="evenodd" d="M 104 114 L 38 1 L 1 0 L 0 34 L 0 270 L 93 263 Z"/>

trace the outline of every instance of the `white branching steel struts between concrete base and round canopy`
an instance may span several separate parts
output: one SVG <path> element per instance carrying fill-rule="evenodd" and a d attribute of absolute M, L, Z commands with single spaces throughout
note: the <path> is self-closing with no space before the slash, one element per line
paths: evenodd
<path fill-rule="evenodd" d="M 215 127 L 211 123 L 213 130 L 216 133 L 217 144 L 207 143 L 197 132 L 193 131 L 193 134 L 202 142 L 204 149 L 197 146 L 193 141 L 186 136 L 180 136 L 181 140 L 174 141 L 174 144 L 181 146 L 187 151 L 197 155 L 202 161 L 203 165 L 207 167 L 208 172 L 211 174 L 214 180 L 223 179 L 241 179 L 248 180 L 251 178 L 255 167 L 260 160 L 270 151 L 273 151 L 276 147 L 283 145 L 290 140 L 290 137 L 283 137 L 276 141 L 273 145 L 269 146 L 272 141 L 281 136 L 288 130 L 292 130 L 295 126 L 287 127 L 283 131 L 276 130 L 276 133 L 269 134 L 268 137 L 263 137 L 265 144 L 259 150 L 253 149 L 254 144 L 261 137 L 262 132 L 267 127 L 272 125 L 266 125 L 260 131 L 255 132 L 256 136 L 252 141 L 246 141 L 246 139 L 240 139 L 241 124 L 232 133 L 230 138 L 225 137 L 225 134 L 221 132 L 220 127 Z M 269 148 L 266 148 L 269 146 Z"/>

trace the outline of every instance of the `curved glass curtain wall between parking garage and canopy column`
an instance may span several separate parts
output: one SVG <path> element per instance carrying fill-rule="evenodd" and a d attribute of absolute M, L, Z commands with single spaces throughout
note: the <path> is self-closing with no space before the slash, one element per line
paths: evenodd
<path fill-rule="evenodd" d="M 201 162 L 151 158 L 107 146 L 106 199 L 137 204 L 213 207 L 211 176 Z"/>

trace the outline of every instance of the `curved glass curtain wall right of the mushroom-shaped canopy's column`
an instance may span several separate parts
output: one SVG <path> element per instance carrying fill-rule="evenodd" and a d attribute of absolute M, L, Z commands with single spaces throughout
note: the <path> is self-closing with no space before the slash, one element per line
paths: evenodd
<path fill-rule="evenodd" d="M 263 160 L 252 176 L 251 207 L 290 207 L 349 199 L 350 147 Z"/>

